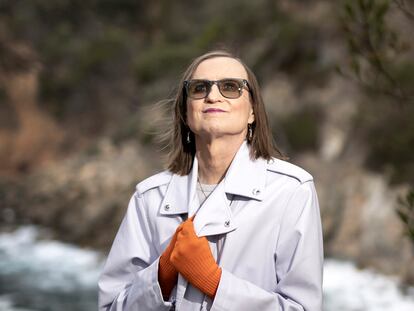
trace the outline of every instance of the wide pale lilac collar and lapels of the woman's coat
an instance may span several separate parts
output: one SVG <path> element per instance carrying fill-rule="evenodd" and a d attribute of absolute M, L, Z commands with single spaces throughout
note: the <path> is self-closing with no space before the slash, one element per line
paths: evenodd
<path fill-rule="evenodd" d="M 199 236 L 227 233 L 235 230 L 230 204 L 231 196 L 243 196 L 261 201 L 264 195 L 267 164 L 263 159 L 251 160 L 249 146 L 243 142 L 226 176 L 200 208 L 196 186 L 198 161 L 194 158 L 190 174 L 174 174 L 168 185 L 160 213 L 162 215 L 189 214 L 197 216 L 194 227 Z M 233 202 L 234 204 L 234 202 Z"/>

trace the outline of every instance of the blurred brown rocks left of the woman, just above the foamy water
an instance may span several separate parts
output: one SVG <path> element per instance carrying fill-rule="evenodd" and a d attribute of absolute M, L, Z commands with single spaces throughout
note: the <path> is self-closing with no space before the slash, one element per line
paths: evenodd
<path fill-rule="evenodd" d="M 115 147 L 103 139 L 93 152 L 39 169 L 23 181 L 2 180 L 3 225 L 40 224 L 58 239 L 107 249 L 135 185 L 156 168 L 134 142 Z"/>

